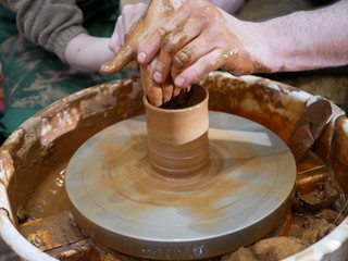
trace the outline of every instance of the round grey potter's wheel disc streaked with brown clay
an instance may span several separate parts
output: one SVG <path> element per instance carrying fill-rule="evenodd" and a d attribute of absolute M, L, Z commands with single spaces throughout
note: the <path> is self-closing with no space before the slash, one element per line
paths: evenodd
<path fill-rule="evenodd" d="M 84 232 L 117 251 L 151 259 L 201 259 L 270 233 L 289 208 L 296 164 L 271 130 L 210 112 L 210 164 L 189 178 L 157 174 L 147 159 L 145 116 L 87 140 L 66 170 Z"/>

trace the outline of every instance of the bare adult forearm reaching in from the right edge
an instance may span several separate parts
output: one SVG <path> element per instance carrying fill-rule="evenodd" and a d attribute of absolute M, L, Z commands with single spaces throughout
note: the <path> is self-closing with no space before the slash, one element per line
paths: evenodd
<path fill-rule="evenodd" d="M 260 23 L 261 63 L 272 72 L 348 64 L 348 0 Z"/>

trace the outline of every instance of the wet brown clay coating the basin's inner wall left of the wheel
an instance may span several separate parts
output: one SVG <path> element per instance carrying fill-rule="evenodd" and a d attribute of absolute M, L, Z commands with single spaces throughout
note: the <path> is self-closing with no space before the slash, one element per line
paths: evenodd
<path fill-rule="evenodd" d="M 38 119 L 36 128 L 23 126 L 5 141 L 2 153 L 18 148 L 14 161 L 20 163 L 9 184 L 17 223 L 70 211 L 64 181 L 69 161 L 96 133 L 145 113 L 139 83 L 116 80 L 75 94 L 32 117 Z"/>

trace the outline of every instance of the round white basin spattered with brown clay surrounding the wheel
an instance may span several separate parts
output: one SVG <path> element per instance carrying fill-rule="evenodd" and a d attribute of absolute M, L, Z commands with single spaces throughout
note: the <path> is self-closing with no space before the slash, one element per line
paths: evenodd
<path fill-rule="evenodd" d="M 293 127 L 311 102 L 322 99 L 269 79 L 214 72 L 201 84 L 209 109 L 258 122 L 289 141 Z M 64 170 L 89 137 L 116 122 L 145 113 L 138 79 L 95 86 L 69 96 L 27 120 L 0 150 L 0 235 L 26 260 L 54 260 L 21 235 L 21 225 L 69 211 Z M 312 148 L 348 192 L 348 121 L 334 116 Z M 345 210 L 345 208 L 343 208 Z M 286 260 L 347 260 L 348 219 L 318 243 Z M 37 244 L 35 244 L 37 246 Z"/>

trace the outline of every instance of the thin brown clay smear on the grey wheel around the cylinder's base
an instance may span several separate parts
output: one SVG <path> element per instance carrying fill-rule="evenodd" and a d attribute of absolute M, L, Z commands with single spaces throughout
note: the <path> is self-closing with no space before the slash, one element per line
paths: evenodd
<path fill-rule="evenodd" d="M 199 219 L 219 217 L 221 210 L 235 203 L 216 208 L 219 202 L 245 184 L 224 177 L 226 166 L 217 149 L 221 145 L 214 141 L 211 145 L 209 164 L 203 170 L 188 177 L 169 177 L 151 167 L 146 154 L 146 137 L 130 140 L 123 150 L 115 150 L 105 141 L 102 144 L 105 169 L 100 186 L 111 187 L 121 198 L 142 206 L 179 207 Z M 134 159 L 139 154 L 134 151 L 144 152 L 139 159 Z M 127 162 L 125 172 L 114 172 L 122 162 Z"/>

